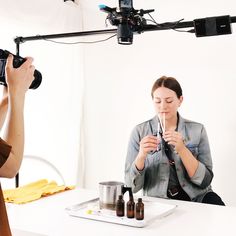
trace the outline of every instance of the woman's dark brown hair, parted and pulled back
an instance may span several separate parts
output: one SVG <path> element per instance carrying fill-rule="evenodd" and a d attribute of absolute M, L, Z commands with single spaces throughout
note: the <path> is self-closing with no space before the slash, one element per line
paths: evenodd
<path fill-rule="evenodd" d="M 173 90 L 178 98 L 182 96 L 182 88 L 179 82 L 173 77 L 162 76 L 161 78 L 157 79 L 152 86 L 152 92 L 151 92 L 152 98 L 155 90 L 160 87 L 165 87 Z"/>

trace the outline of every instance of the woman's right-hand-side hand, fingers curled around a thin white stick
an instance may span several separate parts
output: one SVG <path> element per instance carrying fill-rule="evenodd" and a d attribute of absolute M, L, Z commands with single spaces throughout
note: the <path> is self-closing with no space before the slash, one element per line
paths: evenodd
<path fill-rule="evenodd" d="M 177 131 L 166 131 L 163 138 L 168 144 L 174 146 L 176 152 L 185 147 L 182 134 Z"/>

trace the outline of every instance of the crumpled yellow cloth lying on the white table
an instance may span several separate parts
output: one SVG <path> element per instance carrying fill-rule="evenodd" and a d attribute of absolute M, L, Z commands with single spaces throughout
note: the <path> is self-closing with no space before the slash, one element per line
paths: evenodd
<path fill-rule="evenodd" d="M 23 204 L 74 188 L 75 186 L 58 186 L 55 181 L 48 182 L 46 179 L 41 179 L 19 188 L 3 190 L 3 195 L 5 202 Z"/>

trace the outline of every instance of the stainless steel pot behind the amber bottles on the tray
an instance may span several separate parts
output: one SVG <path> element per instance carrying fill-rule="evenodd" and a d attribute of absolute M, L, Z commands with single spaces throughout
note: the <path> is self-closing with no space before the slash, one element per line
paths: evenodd
<path fill-rule="evenodd" d="M 99 206 L 100 209 L 115 210 L 119 195 L 123 194 L 124 183 L 106 181 L 99 183 Z"/>

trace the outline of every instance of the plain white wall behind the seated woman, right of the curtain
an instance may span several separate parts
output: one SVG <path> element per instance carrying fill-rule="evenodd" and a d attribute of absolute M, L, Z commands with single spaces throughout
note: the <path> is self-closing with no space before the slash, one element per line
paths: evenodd
<path fill-rule="evenodd" d="M 104 29 L 99 1 L 81 1 L 84 29 Z M 114 7 L 118 1 L 103 1 Z M 155 9 L 157 22 L 190 21 L 236 15 L 234 1 L 141 1 L 137 9 Z M 233 31 L 235 30 L 232 24 Z M 107 36 L 103 36 L 106 38 Z M 98 39 L 94 37 L 93 39 Z M 236 130 L 235 33 L 196 38 L 173 30 L 135 35 L 132 46 L 108 42 L 85 47 L 86 187 L 102 180 L 123 180 L 127 142 L 132 128 L 154 115 L 150 90 L 162 75 L 183 87 L 182 116 L 202 122 L 214 162 L 213 189 L 230 205 L 234 195 Z"/>

